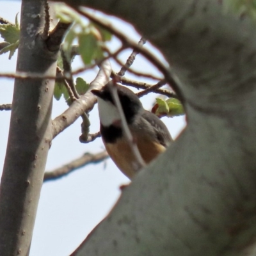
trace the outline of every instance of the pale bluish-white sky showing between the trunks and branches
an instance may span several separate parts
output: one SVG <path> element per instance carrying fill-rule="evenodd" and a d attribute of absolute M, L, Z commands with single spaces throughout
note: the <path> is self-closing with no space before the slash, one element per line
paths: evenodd
<path fill-rule="evenodd" d="M 1 1 L 0 17 L 14 22 L 15 15 L 20 13 L 20 1 Z M 136 33 L 131 25 L 122 20 L 111 17 L 113 26 L 129 35 L 134 42 L 140 40 L 140 35 Z M 0 42 L 3 42 L 0 38 Z M 109 43 L 110 49 L 118 47 L 118 40 Z M 145 47 L 157 54 L 157 57 L 164 61 L 161 53 L 152 45 Z M 126 61 L 131 50 L 124 51 L 120 55 L 120 60 Z M 0 72 L 15 72 L 17 52 L 12 60 L 8 60 L 8 54 L 0 56 Z M 74 69 L 83 65 L 79 57 L 74 61 Z M 111 61 L 113 70 L 119 71 L 120 67 Z M 132 68 L 138 71 L 147 72 L 156 76 L 161 76 L 156 68 L 152 67 L 141 56 L 136 58 Z M 97 74 L 97 69 L 86 72 L 83 79 L 90 83 Z M 154 84 L 155 81 L 134 77 L 127 74 L 127 77 Z M 0 105 L 12 102 L 13 79 L 0 78 Z M 150 109 L 154 103 L 156 95 L 143 97 L 141 100 L 145 109 Z M 67 109 L 67 104 L 62 98 L 54 100 L 52 109 L 52 119 L 60 115 Z M 10 124 L 10 111 L 0 111 L 0 175 L 3 170 L 6 145 L 8 140 L 8 129 Z M 162 118 L 168 127 L 173 138 L 177 137 L 183 129 L 185 123 L 184 116 L 176 118 Z M 97 106 L 90 113 L 91 132 L 99 131 L 99 117 Z M 76 159 L 85 152 L 96 153 L 104 149 L 100 138 L 90 144 L 79 142 L 81 135 L 81 118 L 73 125 L 59 134 L 49 151 L 46 170 L 54 170 L 63 164 Z M 35 229 L 31 244 L 31 256 L 67 256 L 73 252 L 84 240 L 88 233 L 99 223 L 111 210 L 120 195 L 119 187 L 128 184 L 127 179 L 115 164 L 108 159 L 99 164 L 89 164 L 80 168 L 70 175 L 61 179 L 45 182 L 42 186 L 38 212 L 36 216 Z"/>

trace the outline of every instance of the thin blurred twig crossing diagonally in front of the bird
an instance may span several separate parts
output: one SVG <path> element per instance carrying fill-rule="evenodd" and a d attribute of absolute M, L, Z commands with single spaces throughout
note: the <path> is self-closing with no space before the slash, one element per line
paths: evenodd
<path fill-rule="evenodd" d="M 117 76 L 116 76 L 116 79 L 118 79 Z M 113 97 L 115 106 L 118 109 L 118 112 L 119 112 L 119 115 L 121 118 L 121 124 L 122 124 L 122 130 L 124 131 L 124 136 L 125 136 L 127 142 L 129 143 L 129 146 L 131 147 L 131 151 L 134 154 L 134 158 L 136 159 L 136 162 L 132 163 L 132 164 L 134 164 L 134 170 L 136 170 L 136 172 L 138 172 L 139 170 L 141 170 L 141 168 L 143 168 L 145 166 L 145 162 L 144 162 L 143 158 L 141 157 L 141 154 L 140 154 L 140 151 L 136 144 L 136 141 L 134 141 L 131 131 L 128 127 L 127 120 L 124 115 L 124 110 L 122 108 L 120 99 L 118 97 L 117 88 L 115 86 L 115 83 L 116 83 L 115 79 L 111 80 L 109 83 L 111 84 L 110 93 Z"/>

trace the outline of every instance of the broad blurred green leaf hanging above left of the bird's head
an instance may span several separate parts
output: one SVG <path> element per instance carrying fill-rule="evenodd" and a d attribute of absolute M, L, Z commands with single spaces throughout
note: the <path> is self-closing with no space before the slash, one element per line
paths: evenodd
<path fill-rule="evenodd" d="M 97 51 L 100 50 L 97 39 L 92 34 L 81 33 L 78 36 L 78 42 L 78 50 L 84 64 L 92 63 L 93 56 L 97 55 Z"/>

